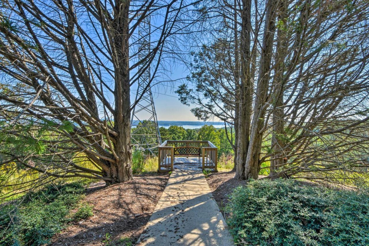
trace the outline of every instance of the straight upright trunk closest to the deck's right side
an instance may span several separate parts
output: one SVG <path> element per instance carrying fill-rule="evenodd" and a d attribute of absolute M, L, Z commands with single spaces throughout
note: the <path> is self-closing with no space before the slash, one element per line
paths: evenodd
<path fill-rule="evenodd" d="M 251 122 L 251 77 L 250 77 L 250 44 L 251 44 L 251 0 L 242 1 L 241 10 L 241 85 L 239 86 L 238 132 L 235 178 L 245 178 L 245 161 L 249 145 Z"/>

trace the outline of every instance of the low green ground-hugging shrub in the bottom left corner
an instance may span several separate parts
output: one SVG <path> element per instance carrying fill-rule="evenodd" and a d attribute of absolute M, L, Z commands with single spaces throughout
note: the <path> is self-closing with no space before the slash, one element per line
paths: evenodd
<path fill-rule="evenodd" d="M 41 245 L 72 220 L 67 215 L 85 188 L 80 182 L 50 185 L 25 195 L 20 205 L 0 208 L 0 245 Z"/>

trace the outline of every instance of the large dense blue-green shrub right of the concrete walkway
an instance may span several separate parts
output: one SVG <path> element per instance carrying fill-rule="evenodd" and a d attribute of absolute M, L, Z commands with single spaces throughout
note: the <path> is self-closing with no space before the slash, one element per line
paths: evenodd
<path fill-rule="evenodd" d="M 250 245 L 369 245 L 369 197 L 354 191 L 258 180 L 227 206 L 230 231 Z"/>

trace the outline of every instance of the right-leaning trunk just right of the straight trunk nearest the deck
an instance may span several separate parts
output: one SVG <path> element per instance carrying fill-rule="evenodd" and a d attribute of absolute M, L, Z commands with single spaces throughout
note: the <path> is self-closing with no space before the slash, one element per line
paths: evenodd
<path fill-rule="evenodd" d="M 259 157 L 263 140 L 263 126 L 268 99 L 269 72 L 272 61 L 273 38 L 275 33 L 276 0 L 269 0 L 266 4 L 266 20 L 263 34 L 259 78 L 256 88 L 254 116 L 252 119 L 251 135 L 245 164 L 245 179 L 258 179 Z"/>

